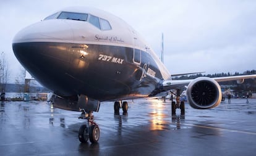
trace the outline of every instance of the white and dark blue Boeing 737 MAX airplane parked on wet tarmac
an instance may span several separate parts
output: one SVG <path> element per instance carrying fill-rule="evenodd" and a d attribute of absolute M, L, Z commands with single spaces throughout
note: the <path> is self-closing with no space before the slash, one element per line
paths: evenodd
<path fill-rule="evenodd" d="M 23 28 L 12 49 L 33 78 L 54 92 L 54 107 L 82 112 L 80 118 L 87 121 L 80 126 L 80 142 L 98 142 L 100 128 L 92 113 L 99 111 L 100 102 L 113 101 L 115 113 L 121 108 L 127 113 L 128 99 L 161 97 L 188 85 L 190 106 L 211 109 L 221 102 L 218 82 L 256 78 L 172 80 L 137 31 L 121 18 L 92 7 L 67 7 Z"/>

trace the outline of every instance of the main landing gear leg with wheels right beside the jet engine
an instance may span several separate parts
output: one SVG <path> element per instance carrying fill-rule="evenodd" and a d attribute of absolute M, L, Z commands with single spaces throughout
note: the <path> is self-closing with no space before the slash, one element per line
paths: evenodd
<path fill-rule="evenodd" d="M 184 101 L 180 102 L 180 97 L 181 97 L 181 90 L 180 89 L 176 89 L 176 94 L 174 92 L 171 92 L 171 94 L 176 95 L 176 104 L 175 102 L 172 100 L 171 102 L 171 113 L 172 115 L 176 115 L 176 109 L 181 109 L 181 115 L 185 114 L 185 104 Z"/>

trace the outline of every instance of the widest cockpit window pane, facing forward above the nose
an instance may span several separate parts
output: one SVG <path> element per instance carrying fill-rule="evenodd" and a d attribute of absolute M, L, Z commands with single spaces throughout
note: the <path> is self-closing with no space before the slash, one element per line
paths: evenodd
<path fill-rule="evenodd" d="M 87 21 L 87 17 L 88 17 L 88 14 L 75 13 L 75 12 L 61 12 L 58 19 Z"/>

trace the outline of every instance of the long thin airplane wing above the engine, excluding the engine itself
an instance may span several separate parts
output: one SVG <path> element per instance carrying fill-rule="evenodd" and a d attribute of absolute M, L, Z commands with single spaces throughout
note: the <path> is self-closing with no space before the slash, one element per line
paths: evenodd
<path fill-rule="evenodd" d="M 225 76 L 225 77 L 216 77 L 216 78 L 211 78 L 211 79 L 215 80 L 217 82 L 237 80 L 237 83 L 241 84 L 244 82 L 245 79 L 249 79 L 249 78 L 256 78 L 256 74 L 254 74 L 254 75 L 239 75 L 239 76 Z M 183 86 L 187 86 L 190 82 L 192 82 L 194 80 L 195 79 L 165 80 L 165 81 L 163 81 L 163 90 L 168 91 L 170 89 L 181 88 Z"/>

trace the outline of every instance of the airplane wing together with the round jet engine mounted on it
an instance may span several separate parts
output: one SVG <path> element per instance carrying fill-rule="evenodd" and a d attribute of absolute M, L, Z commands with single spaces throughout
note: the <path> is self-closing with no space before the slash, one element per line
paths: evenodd
<path fill-rule="evenodd" d="M 256 78 L 256 75 L 239 75 L 226 77 L 198 77 L 192 80 L 166 80 L 163 81 L 161 91 L 169 91 L 171 89 L 187 86 L 187 101 L 194 109 L 211 109 L 221 103 L 222 92 L 218 82 L 237 80 L 238 84 L 244 82 L 245 79 Z"/>

